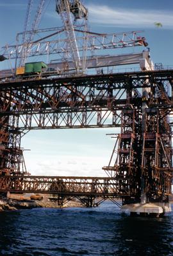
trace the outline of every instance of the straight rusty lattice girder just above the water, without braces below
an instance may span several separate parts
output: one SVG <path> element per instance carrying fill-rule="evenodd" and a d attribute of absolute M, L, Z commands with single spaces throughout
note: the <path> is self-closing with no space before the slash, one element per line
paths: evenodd
<path fill-rule="evenodd" d="M 129 196 L 128 178 L 0 176 L 0 192 L 34 192 L 71 196 Z"/>

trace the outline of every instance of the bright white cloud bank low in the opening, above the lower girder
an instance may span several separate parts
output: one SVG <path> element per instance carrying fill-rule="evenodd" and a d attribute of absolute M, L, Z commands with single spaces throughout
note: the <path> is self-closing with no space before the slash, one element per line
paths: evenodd
<path fill-rule="evenodd" d="M 105 158 L 91 156 L 60 156 L 61 161 L 56 160 L 26 160 L 28 171 L 32 175 L 42 176 L 106 176 L 102 167 L 108 164 L 108 156 Z M 76 164 L 74 164 L 76 163 Z"/>

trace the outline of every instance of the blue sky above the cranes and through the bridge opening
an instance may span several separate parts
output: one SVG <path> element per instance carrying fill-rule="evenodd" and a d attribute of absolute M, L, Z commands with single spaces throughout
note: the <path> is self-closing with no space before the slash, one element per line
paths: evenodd
<path fill-rule="evenodd" d="M 104 33 L 145 30 L 142 35 L 149 42 L 153 62 L 173 67 L 172 0 L 83 2 L 89 10 L 90 30 Z M 39 1 L 34 3 L 36 7 Z M 27 0 L 0 0 L 0 48 L 15 43 L 16 33 L 23 30 L 27 4 Z M 47 0 L 46 6 L 40 28 L 62 26 L 55 12 L 55 0 Z M 157 28 L 155 22 L 163 26 Z M 116 53 L 124 50 L 113 52 Z M 10 68 L 8 62 L 0 62 L 0 69 L 4 68 Z M 102 176 L 101 167 L 108 163 L 113 148 L 113 140 L 105 134 L 116 132 L 116 129 L 31 131 L 22 140 L 22 147 L 31 149 L 25 152 L 26 165 L 32 174 Z"/>

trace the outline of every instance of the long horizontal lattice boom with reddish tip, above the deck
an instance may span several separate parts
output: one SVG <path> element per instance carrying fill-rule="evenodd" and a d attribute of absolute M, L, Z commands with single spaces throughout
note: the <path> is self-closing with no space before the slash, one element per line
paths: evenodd
<path fill-rule="evenodd" d="M 78 44 L 78 51 L 88 50 L 104 50 L 127 48 L 133 46 L 147 46 L 145 37 L 141 37 L 142 31 L 123 32 L 123 33 L 94 33 L 90 31 L 85 32 L 85 26 L 74 26 L 74 32 L 77 33 L 76 42 Z M 33 31 L 25 32 L 28 37 L 33 35 Z M 63 54 L 70 54 L 67 48 L 68 38 L 63 27 L 44 28 L 35 31 L 37 39 L 28 44 L 22 44 L 22 33 L 17 34 L 17 44 L 6 45 L 1 48 L 1 54 L 9 59 L 21 58 L 21 52 L 24 48 L 29 47 L 28 57 L 35 57 L 40 55 L 58 54 L 58 58 L 62 62 Z M 86 34 L 86 35 L 85 35 Z M 87 36 L 86 49 L 83 49 L 83 40 Z M 48 40 L 50 39 L 51 40 Z M 91 54 L 93 55 L 93 54 Z"/>

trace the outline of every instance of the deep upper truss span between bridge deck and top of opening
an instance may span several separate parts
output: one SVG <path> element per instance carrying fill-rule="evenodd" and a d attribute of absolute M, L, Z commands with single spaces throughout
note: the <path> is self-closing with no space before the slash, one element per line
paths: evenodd
<path fill-rule="evenodd" d="M 119 127 L 120 111 L 134 105 L 139 109 L 140 93 L 149 87 L 163 95 L 150 97 L 150 106 L 172 109 L 164 83 L 172 86 L 173 70 L 117 73 L 85 77 L 15 78 L 1 81 L 0 117 L 11 116 L 10 122 L 21 129 L 60 129 Z"/>

